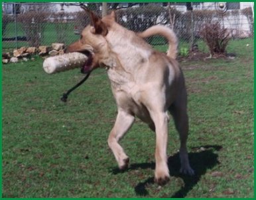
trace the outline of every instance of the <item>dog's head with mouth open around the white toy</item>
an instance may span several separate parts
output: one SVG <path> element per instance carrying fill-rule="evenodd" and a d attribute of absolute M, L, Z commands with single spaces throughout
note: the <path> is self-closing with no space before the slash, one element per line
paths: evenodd
<path fill-rule="evenodd" d="M 107 57 L 109 47 L 106 36 L 108 28 L 115 21 L 115 13 L 103 17 L 97 17 L 92 11 L 82 7 L 90 17 L 90 24 L 82 30 L 80 39 L 70 44 L 65 53 L 80 52 L 88 56 L 86 65 L 81 69 L 82 73 L 88 73 L 101 64 L 104 57 Z"/>

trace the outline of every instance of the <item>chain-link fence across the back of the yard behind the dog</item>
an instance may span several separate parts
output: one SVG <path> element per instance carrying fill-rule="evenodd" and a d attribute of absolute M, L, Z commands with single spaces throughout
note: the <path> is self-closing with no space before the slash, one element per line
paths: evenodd
<path fill-rule="evenodd" d="M 101 3 L 86 4 L 101 16 Z M 173 28 L 180 46 L 191 48 L 202 39 L 204 24 L 221 22 L 233 39 L 253 37 L 253 3 L 107 3 L 116 10 L 117 22 L 129 30 L 143 31 L 155 24 Z M 89 23 L 79 3 L 2 3 L 2 48 L 70 44 Z M 148 39 L 153 46 L 165 45 L 160 36 Z"/>

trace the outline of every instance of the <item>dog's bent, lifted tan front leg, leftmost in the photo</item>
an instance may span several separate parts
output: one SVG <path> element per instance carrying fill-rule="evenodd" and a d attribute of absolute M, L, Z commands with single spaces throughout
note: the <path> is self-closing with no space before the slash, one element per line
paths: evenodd
<path fill-rule="evenodd" d="M 125 154 L 123 148 L 119 145 L 118 141 L 125 135 L 131 125 L 133 125 L 135 117 L 123 110 L 119 110 L 115 125 L 109 134 L 107 143 L 112 150 L 115 159 L 117 160 L 119 169 L 127 168 L 129 164 L 129 157 Z"/>

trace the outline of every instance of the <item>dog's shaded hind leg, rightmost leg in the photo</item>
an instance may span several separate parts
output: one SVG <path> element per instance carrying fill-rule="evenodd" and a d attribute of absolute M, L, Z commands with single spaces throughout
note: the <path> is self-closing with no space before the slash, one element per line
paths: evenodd
<path fill-rule="evenodd" d="M 185 93 L 186 95 L 186 93 Z M 186 112 L 186 96 L 181 100 L 176 100 L 168 109 L 172 117 L 176 129 L 180 135 L 180 173 L 194 175 L 194 170 L 190 167 L 188 160 L 188 150 L 186 148 L 186 141 L 188 139 L 188 114 Z"/>

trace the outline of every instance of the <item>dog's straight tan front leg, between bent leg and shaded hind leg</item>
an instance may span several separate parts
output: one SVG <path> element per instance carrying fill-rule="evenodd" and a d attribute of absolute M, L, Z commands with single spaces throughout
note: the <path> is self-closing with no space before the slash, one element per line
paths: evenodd
<path fill-rule="evenodd" d="M 170 179 L 167 165 L 167 142 L 168 142 L 168 121 L 169 117 L 166 112 L 151 114 L 155 123 L 155 132 L 157 136 L 155 149 L 155 182 L 159 185 L 164 185 Z"/>

